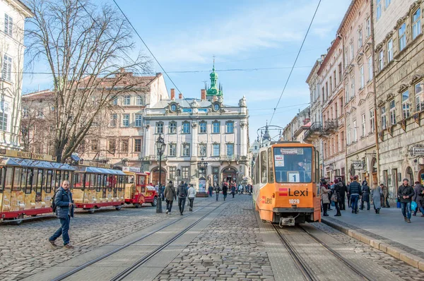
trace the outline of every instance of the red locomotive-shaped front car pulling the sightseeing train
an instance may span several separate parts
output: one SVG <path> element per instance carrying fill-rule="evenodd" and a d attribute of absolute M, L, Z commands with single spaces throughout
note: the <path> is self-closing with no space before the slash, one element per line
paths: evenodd
<path fill-rule="evenodd" d="M 139 167 L 122 167 L 128 177 L 125 184 L 125 203 L 133 204 L 140 208 L 143 203 L 151 203 L 155 206 L 158 203 L 158 193 L 154 186 L 148 185 L 150 173 L 140 172 Z"/>

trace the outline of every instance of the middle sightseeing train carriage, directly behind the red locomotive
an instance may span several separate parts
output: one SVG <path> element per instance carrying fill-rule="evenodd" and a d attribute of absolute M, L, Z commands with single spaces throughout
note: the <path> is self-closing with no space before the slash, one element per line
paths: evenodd
<path fill-rule="evenodd" d="M 97 167 L 93 167 L 97 166 Z M 124 205 L 126 174 L 108 165 L 80 160 L 73 174 L 72 193 L 76 208 L 93 213 L 100 207 Z"/>

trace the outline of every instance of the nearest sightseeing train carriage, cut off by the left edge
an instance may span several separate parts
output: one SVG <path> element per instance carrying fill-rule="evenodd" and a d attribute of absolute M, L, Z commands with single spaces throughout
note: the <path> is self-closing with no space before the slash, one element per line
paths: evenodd
<path fill-rule="evenodd" d="M 51 213 L 51 199 L 74 167 L 53 162 L 51 155 L 0 149 L 0 220 L 17 225 L 25 215 Z"/>

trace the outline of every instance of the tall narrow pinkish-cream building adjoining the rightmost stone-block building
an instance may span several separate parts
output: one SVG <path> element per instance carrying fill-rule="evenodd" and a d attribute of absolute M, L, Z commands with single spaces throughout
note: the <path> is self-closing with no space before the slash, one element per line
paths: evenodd
<path fill-rule="evenodd" d="M 372 186 L 377 182 L 377 135 L 370 1 L 353 1 L 337 34 L 344 46 L 346 167 L 349 178 L 356 175 L 359 181 L 366 179 Z"/>

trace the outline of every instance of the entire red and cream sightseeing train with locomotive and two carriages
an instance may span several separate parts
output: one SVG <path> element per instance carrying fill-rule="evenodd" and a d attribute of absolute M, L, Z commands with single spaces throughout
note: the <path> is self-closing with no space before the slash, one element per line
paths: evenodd
<path fill-rule="evenodd" d="M 155 204 L 158 196 L 153 186 L 146 186 L 147 174 L 136 174 L 141 185 L 131 192 L 134 184 L 128 182 L 129 174 L 110 165 L 83 160 L 69 165 L 54 162 L 51 155 L 0 149 L 0 221 L 18 225 L 25 215 L 51 213 L 54 192 L 64 180 L 71 184 L 76 208 L 90 213 L 106 206 L 119 210 L 134 200 L 136 206 Z"/>

